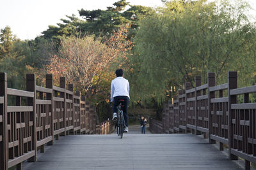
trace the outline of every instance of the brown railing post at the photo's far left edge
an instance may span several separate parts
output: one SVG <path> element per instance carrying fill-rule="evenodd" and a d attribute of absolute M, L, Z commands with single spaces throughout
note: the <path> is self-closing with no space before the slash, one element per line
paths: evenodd
<path fill-rule="evenodd" d="M 3 104 L 0 104 L 0 169 L 8 170 L 8 129 L 7 129 L 7 74 L 0 73 L 0 96 L 4 98 Z"/>

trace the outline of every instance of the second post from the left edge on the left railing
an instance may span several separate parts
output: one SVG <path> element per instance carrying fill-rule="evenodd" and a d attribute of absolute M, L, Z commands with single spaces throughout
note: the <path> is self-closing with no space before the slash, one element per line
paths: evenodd
<path fill-rule="evenodd" d="M 34 92 L 34 97 L 28 98 L 28 106 L 33 106 L 33 132 L 32 132 L 32 150 L 35 150 L 35 156 L 31 157 L 28 161 L 29 162 L 36 162 L 36 76 L 35 74 L 27 74 L 26 75 L 26 90 L 29 92 Z"/>

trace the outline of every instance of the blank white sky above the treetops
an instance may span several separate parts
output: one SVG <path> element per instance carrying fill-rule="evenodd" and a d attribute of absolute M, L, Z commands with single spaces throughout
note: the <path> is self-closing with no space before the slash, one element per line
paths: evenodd
<path fill-rule="evenodd" d="M 73 13 L 78 17 L 78 11 L 106 10 L 107 6 L 118 0 L 0 0 L 0 29 L 6 25 L 11 27 L 13 34 L 18 38 L 34 39 L 48 25 L 60 23 L 61 18 Z M 163 3 L 161 0 L 127 0 L 130 4 L 157 7 Z M 230 0 L 232 1 L 232 0 Z M 255 0 L 248 0 L 253 9 L 256 9 Z M 256 15 L 255 10 L 251 12 Z"/>

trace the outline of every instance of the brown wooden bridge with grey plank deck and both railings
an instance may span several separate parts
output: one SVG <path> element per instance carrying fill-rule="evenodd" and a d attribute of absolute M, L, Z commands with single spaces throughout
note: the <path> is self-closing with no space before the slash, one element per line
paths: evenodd
<path fill-rule="evenodd" d="M 47 74 L 39 87 L 28 74 L 24 91 L 8 88 L 1 73 L 0 170 L 22 169 L 22 163 L 24 169 L 243 169 L 234 161 L 239 157 L 250 169 L 256 163 L 256 104 L 249 94 L 256 87 L 237 89 L 235 72 L 223 85 L 209 73 L 207 84 L 196 76 L 196 87 L 185 87 L 166 104 L 162 121 L 150 120 L 151 130 L 161 134 L 140 134 L 138 126 L 118 139 L 109 134 L 111 122 L 97 124 L 93 107 L 72 84 L 66 88 L 65 78 L 56 87 Z"/>

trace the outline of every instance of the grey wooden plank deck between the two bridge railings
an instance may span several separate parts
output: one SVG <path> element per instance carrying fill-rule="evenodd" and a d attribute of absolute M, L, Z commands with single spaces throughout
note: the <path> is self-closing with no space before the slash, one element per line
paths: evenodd
<path fill-rule="evenodd" d="M 241 169 L 216 147 L 193 134 L 66 136 L 47 146 L 25 170 L 45 169 Z"/>

